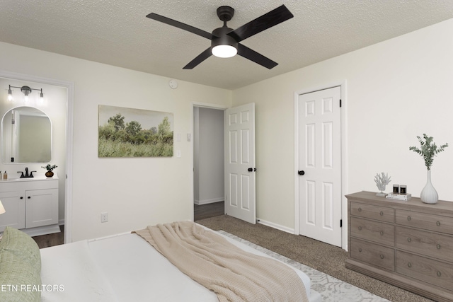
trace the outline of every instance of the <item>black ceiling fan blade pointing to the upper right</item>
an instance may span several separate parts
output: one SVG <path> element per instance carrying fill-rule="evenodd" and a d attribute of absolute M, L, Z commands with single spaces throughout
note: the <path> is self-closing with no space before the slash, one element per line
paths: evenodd
<path fill-rule="evenodd" d="M 294 17 L 293 14 L 286 8 L 285 5 L 275 8 L 273 11 L 265 13 L 263 16 L 256 18 L 247 24 L 228 33 L 229 36 L 234 37 L 234 40 L 241 42 L 252 35 L 267 30 L 283 21 Z"/>

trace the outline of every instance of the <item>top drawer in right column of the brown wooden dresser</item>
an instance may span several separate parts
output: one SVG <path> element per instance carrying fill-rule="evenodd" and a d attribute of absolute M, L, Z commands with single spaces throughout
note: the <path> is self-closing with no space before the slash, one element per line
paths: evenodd
<path fill-rule="evenodd" d="M 453 217 L 423 214 L 416 211 L 396 210 L 396 223 L 441 233 L 452 233 Z"/>

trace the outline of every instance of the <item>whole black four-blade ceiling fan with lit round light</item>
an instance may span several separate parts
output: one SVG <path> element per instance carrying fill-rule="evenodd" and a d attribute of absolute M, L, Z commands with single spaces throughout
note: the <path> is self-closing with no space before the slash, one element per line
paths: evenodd
<path fill-rule="evenodd" d="M 217 16 L 219 16 L 219 19 L 224 22 L 224 25 L 221 28 L 214 29 L 212 33 L 200 30 L 199 28 L 194 28 L 193 26 L 181 23 L 171 18 L 166 18 L 158 15 L 157 13 L 149 13 L 147 18 L 187 30 L 190 33 L 195 33 L 195 35 L 200 35 L 211 40 L 211 46 L 195 57 L 195 59 L 190 61 L 189 64 L 185 65 L 183 69 L 193 69 L 195 66 L 210 57 L 211 54 L 214 54 L 216 57 L 234 57 L 234 55 L 239 54 L 241 57 L 249 59 L 268 69 L 272 69 L 277 66 L 278 63 L 264 57 L 263 54 L 259 54 L 258 52 L 251 50 L 239 42 L 294 17 L 285 5 L 277 7 L 273 11 L 265 13 L 263 16 L 260 16 L 255 20 L 236 28 L 235 30 L 226 26 L 226 22 L 230 21 L 234 16 L 234 8 L 230 6 L 220 6 L 217 8 Z"/>

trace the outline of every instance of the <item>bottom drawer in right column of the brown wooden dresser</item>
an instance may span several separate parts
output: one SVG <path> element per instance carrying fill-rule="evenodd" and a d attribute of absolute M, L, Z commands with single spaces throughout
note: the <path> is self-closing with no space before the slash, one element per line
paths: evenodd
<path fill-rule="evenodd" d="M 408 252 L 396 251 L 396 272 L 445 289 L 453 287 L 453 265 Z"/>

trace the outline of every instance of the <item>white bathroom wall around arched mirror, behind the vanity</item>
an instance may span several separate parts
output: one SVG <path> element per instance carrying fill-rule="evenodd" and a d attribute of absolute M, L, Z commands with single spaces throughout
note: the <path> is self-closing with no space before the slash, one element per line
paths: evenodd
<path fill-rule="evenodd" d="M 45 93 L 45 103 L 37 103 L 37 96 L 39 91 L 32 91 L 30 94 L 30 102 L 25 104 L 22 98 L 23 96 L 19 88 L 12 88 L 13 95 L 18 97 L 14 98 L 13 102 L 7 100 L 8 85 L 11 86 L 30 86 L 31 88 L 42 88 L 42 92 Z M 52 159 L 50 163 L 57 165 L 58 167 L 54 170 L 59 176 L 59 221 L 64 221 L 64 171 L 66 170 L 66 122 L 67 122 L 67 89 L 59 86 L 53 86 L 46 83 L 36 83 L 31 81 L 21 81 L 11 78 L 0 78 L 0 117 L 18 106 L 28 105 L 34 108 L 38 108 L 42 112 L 45 112 L 52 122 Z M 36 170 L 38 173 L 45 173 L 45 169 L 42 166 L 47 163 L 14 163 L 4 164 L 0 161 L 0 170 L 8 172 L 9 178 L 16 178 L 19 174 L 17 171 L 25 171 L 25 167 L 28 167 L 29 171 Z M 36 173 L 34 173 L 36 174 Z"/>

